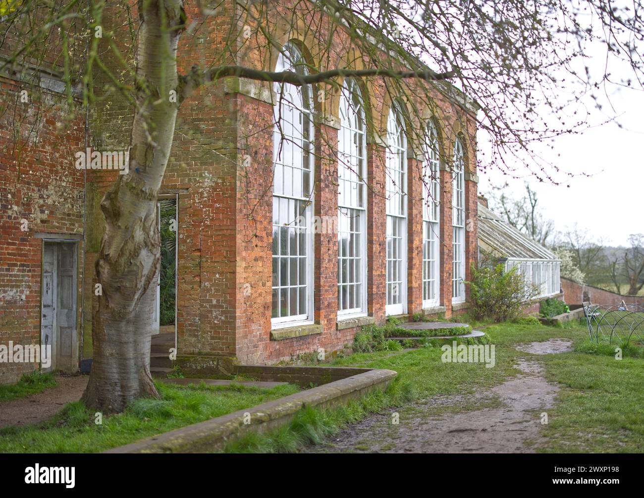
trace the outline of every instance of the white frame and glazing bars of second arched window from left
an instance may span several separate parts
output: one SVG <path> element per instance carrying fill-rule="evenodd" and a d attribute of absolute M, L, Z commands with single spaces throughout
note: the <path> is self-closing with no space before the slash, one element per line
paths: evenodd
<path fill-rule="evenodd" d="M 366 120 L 363 108 L 363 99 L 355 81 L 345 79 L 345 84 L 340 95 L 340 122 L 338 133 L 338 282 L 337 282 L 337 316 L 350 318 L 352 316 L 365 316 L 367 313 L 367 233 L 366 233 Z M 348 148 L 346 147 L 348 145 Z M 350 189 L 350 190 L 347 190 Z M 355 195 L 354 195 L 355 190 Z M 360 303 L 359 307 L 340 309 L 342 302 L 342 289 L 349 282 L 341 283 L 341 239 L 340 228 L 343 226 L 342 211 L 359 211 L 359 278 L 360 278 Z M 355 269 L 354 269 L 355 271 Z"/>

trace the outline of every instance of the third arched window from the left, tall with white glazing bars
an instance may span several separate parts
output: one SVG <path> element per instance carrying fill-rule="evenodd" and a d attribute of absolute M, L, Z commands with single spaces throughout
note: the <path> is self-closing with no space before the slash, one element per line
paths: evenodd
<path fill-rule="evenodd" d="M 407 309 L 407 140 L 403 115 L 393 105 L 387 119 L 387 314 Z"/>

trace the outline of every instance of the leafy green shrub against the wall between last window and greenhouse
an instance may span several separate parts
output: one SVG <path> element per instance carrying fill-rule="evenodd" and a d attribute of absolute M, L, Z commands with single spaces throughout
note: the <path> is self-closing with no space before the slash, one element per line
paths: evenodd
<path fill-rule="evenodd" d="M 516 268 L 504 271 L 504 265 L 477 269 L 471 265 L 469 283 L 471 310 L 475 318 L 495 322 L 514 320 L 522 315 L 522 305 L 538 294 L 538 289 L 526 282 Z"/>

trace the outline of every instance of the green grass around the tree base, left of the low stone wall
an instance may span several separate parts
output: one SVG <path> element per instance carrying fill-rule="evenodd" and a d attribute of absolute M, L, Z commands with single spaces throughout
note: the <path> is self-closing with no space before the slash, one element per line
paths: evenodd
<path fill-rule="evenodd" d="M 28 427 L 0 429 L 0 453 L 100 452 L 179 427 L 222 416 L 293 394 L 294 385 L 271 389 L 230 386 L 175 386 L 156 383 L 161 399 L 139 399 L 118 415 L 95 414 L 80 402 L 68 403 L 57 416 Z"/>

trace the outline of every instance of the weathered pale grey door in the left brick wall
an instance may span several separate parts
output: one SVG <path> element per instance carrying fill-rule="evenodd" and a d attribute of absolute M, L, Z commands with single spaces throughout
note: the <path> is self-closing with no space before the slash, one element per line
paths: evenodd
<path fill-rule="evenodd" d="M 76 249 L 76 244 L 44 243 L 41 365 L 46 372 L 78 367 Z"/>

